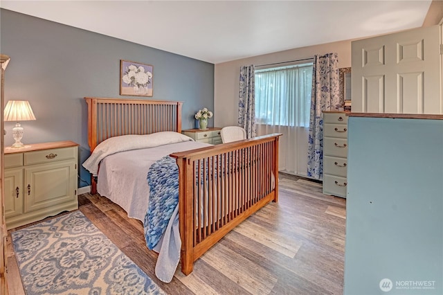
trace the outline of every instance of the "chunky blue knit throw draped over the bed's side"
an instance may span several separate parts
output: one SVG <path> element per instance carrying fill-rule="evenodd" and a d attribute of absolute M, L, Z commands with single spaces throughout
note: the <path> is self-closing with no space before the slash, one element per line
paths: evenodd
<path fill-rule="evenodd" d="M 179 168 L 170 156 L 156 161 L 147 172 L 150 200 L 143 222 L 146 245 L 153 249 L 179 204 Z"/>

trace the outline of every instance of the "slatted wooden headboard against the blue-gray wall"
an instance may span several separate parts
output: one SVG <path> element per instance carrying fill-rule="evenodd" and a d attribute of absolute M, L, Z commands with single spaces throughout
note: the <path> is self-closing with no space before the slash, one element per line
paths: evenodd
<path fill-rule="evenodd" d="M 127 134 L 181 132 L 183 102 L 84 98 L 88 104 L 88 143 L 91 152 L 105 139 Z"/>

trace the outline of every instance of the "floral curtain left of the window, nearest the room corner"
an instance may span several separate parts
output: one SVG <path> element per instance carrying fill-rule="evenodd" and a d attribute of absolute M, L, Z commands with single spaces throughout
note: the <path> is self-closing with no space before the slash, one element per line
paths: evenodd
<path fill-rule="evenodd" d="M 247 138 L 255 136 L 255 66 L 240 67 L 238 125 L 246 130 Z"/>

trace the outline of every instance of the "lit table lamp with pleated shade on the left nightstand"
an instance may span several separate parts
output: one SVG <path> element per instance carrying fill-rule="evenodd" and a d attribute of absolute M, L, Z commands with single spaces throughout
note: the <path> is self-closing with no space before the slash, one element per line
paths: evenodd
<path fill-rule="evenodd" d="M 35 120 L 33 109 L 30 108 L 28 100 L 9 100 L 3 112 L 5 121 L 16 121 L 15 127 L 12 128 L 12 137 L 15 143 L 11 147 L 24 147 L 21 143 L 23 137 L 23 127 L 19 121 Z"/>

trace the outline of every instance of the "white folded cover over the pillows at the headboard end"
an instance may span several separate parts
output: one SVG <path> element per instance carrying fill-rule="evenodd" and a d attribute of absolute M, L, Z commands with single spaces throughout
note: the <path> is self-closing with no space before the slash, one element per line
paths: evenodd
<path fill-rule="evenodd" d="M 126 150 L 138 150 L 147 147 L 157 147 L 159 145 L 168 145 L 170 143 L 180 143 L 182 141 L 194 141 L 189 136 L 178 132 L 164 131 L 147 135 L 122 135 L 114 136 L 102 141 L 93 150 L 91 156 L 82 164 L 93 176 L 97 176 L 98 164 L 102 159 Z"/>

